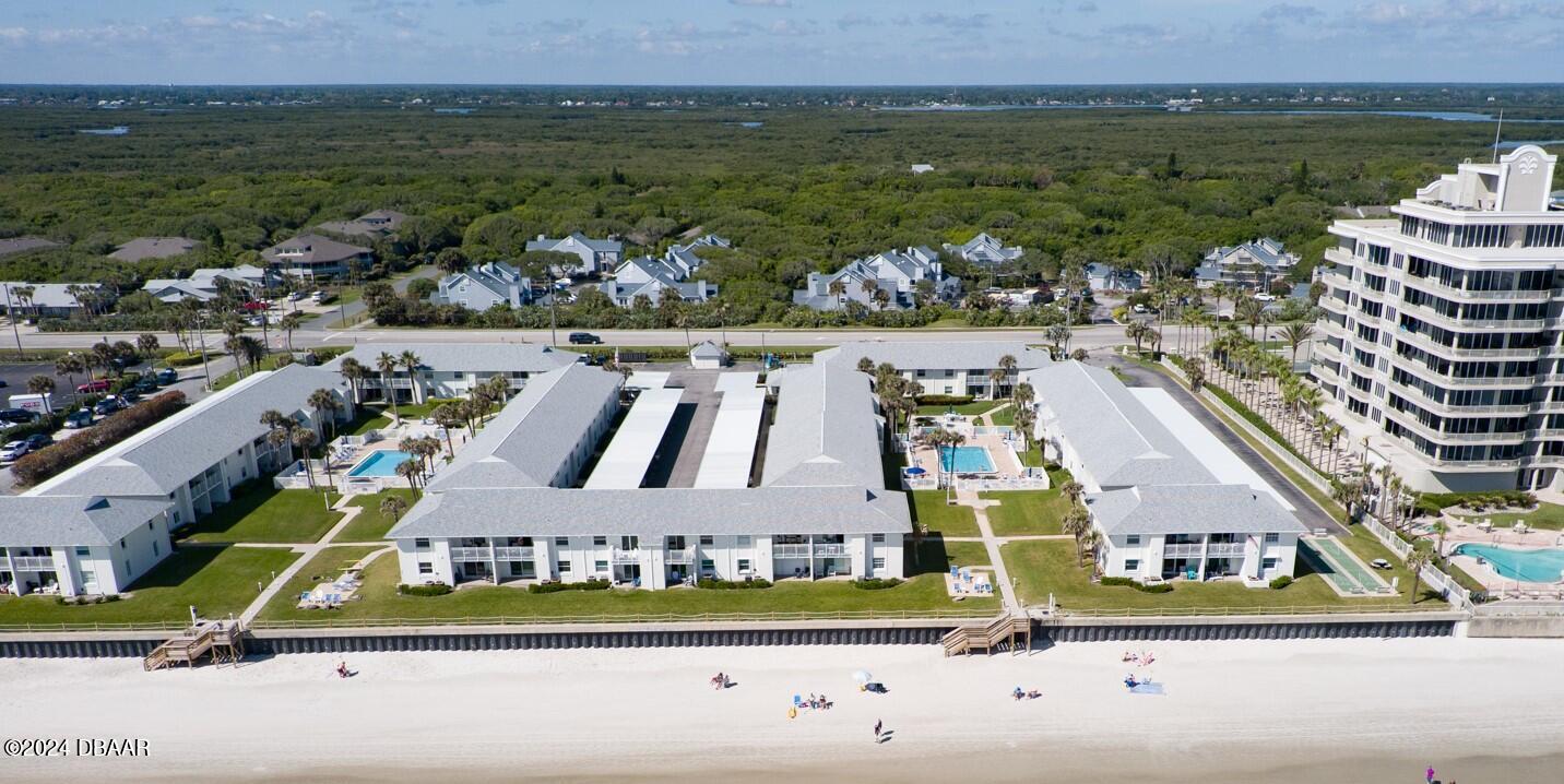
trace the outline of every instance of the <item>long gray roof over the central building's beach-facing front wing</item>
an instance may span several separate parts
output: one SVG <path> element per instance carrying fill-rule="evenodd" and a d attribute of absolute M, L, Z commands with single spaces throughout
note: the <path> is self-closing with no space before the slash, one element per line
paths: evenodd
<path fill-rule="evenodd" d="M 388 538 L 910 530 L 902 493 L 862 487 L 510 488 L 429 493 Z"/>

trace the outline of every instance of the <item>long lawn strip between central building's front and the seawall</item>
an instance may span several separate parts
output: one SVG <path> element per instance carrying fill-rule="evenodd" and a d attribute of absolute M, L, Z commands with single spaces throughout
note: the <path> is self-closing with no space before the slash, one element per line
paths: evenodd
<path fill-rule="evenodd" d="M 346 560 L 338 557 L 336 560 Z M 332 563 L 327 563 L 332 565 Z M 335 565 L 333 565 L 335 566 Z M 303 570 L 321 571 L 321 570 Z M 527 593 L 516 587 L 479 585 L 446 596 L 400 596 L 396 593 L 397 559 L 380 556 L 364 570 L 361 599 L 339 610 L 300 610 L 278 599 L 263 612 L 263 620 L 368 620 L 368 618 L 551 618 L 585 615 L 705 615 L 763 612 L 848 612 L 848 610 L 996 610 L 998 599 L 952 601 L 938 574 L 920 574 L 904 585 L 885 590 L 856 588 L 849 582 L 787 581 L 769 588 L 702 590 L 599 590 Z M 303 590 L 300 584 L 299 592 Z M 299 595 L 294 592 L 294 596 Z"/>

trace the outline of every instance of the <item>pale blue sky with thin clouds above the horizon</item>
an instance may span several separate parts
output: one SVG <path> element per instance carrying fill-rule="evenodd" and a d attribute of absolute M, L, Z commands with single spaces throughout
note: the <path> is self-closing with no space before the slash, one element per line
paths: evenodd
<path fill-rule="evenodd" d="M 1564 0 L 3 0 L 0 81 L 1564 81 Z"/>

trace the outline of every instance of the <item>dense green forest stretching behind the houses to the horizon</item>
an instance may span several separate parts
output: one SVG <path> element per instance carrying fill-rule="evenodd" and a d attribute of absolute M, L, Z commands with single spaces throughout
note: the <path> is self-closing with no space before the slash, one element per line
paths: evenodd
<path fill-rule="evenodd" d="M 105 125 L 130 133 L 80 133 Z M 1564 124 L 1505 136 L 1559 139 Z M 382 252 L 413 257 L 460 244 L 513 258 L 533 235 L 572 230 L 624 236 L 640 246 L 629 255 L 716 232 L 740 250 L 705 277 L 760 318 L 812 269 L 979 230 L 1024 246 L 1026 272 L 1045 277 L 1064 261 L 1192 268 L 1211 246 L 1264 235 L 1312 263 L 1336 207 L 1409 196 L 1492 141 L 1481 122 L 1103 108 L 0 106 L 0 236 L 67 243 L 5 257 L 0 279 L 130 290 L 394 208 L 419 218 Z M 103 258 L 141 235 L 208 249 Z"/>

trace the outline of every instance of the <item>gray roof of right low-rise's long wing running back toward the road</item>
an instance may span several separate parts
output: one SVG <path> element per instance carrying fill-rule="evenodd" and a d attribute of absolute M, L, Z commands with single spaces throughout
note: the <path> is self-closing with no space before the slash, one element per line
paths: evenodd
<path fill-rule="evenodd" d="M 1067 440 L 1103 488 L 1217 482 L 1112 372 L 1071 360 L 1021 380 L 1035 390 L 1038 429 Z"/>

